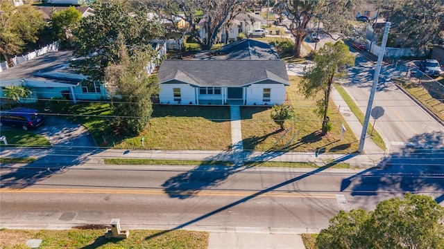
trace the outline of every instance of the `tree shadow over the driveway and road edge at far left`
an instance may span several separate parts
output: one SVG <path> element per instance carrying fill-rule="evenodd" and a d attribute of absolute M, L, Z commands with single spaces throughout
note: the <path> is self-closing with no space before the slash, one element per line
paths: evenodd
<path fill-rule="evenodd" d="M 46 123 L 33 131 L 46 137 L 51 133 L 51 137 L 48 137 L 51 147 L 1 147 L 3 157 L 37 159 L 26 164 L 2 163 L 0 187 L 29 187 L 53 174 L 63 174 L 69 167 L 85 163 L 89 156 L 102 151 L 94 146 L 94 139 L 86 129 L 78 130 L 77 125 L 66 126 L 62 123 L 57 127 Z"/>

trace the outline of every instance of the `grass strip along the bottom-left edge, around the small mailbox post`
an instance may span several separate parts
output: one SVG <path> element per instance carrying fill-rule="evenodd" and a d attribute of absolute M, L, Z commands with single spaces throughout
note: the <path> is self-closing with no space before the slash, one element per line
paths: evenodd
<path fill-rule="evenodd" d="M 125 229 L 124 227 L 122 229 Z M 53 248 L 207 248 L 208 233 L 174 230 L 130 230 L 128 239 L 106 239 L 99 230 L 0 230 L 1 248 L 28 248 L 28 239 L 42 239 L 40 249 Z M 153 234 L 160 234 L 150 237 Z"/>

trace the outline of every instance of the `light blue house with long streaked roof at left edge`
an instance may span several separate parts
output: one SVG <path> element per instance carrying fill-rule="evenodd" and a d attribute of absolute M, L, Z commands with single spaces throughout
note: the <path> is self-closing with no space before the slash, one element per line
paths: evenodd
<path fill-rule="evenodd" d="M 3 88 L 13 84 L 29 87 L 33 91 L 30 101 L 65 97 L 76 103 L 106 98 L 103 84 L 82 83 L 85 76 L 69 67 L 70 59 L 74 59 L 72 51 L 57 51 L 8 68 L 0 73 L 0 97 L 4 98 Z"/>

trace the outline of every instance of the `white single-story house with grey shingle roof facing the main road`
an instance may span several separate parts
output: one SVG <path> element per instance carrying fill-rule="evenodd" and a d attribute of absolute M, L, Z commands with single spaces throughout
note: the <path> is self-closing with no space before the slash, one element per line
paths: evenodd
<path fill-rule="evenodd" d="M 282 104 L 289 78 L 281 60 L 165 60 L 161 104 Z"/>

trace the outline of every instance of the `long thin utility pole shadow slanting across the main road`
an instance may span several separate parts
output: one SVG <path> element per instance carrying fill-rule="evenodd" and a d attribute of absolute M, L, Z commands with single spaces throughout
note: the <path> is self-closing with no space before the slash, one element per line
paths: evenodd
<path fill-rule="evenodd" d="M 240 204 L 242 204 L 242 203 L 246 203 L 247 201 L 250 201 L 251 199 L 254 199 L 254 198 L 256 198 L 256 197 L 262 196 L 263 194 L 266 194 L 266 193 L 271 192 L 271 191 L 273 191 L 273 190 L 277 190 L 277 189 L 280 188 L 280 187 L 283 187 L 283 186 L 285 186 L 285 185 L 288 185 L 288 184 L 294 183 L 294 182 L 296 182 L 296 181 L 300 181 L 300 180 L 302 180 L 303 178 L 307 178 L 308 176 L 312 176 L 312 175 L 314 175 L 314 174 L 317 174 L 317 173 L 319 173 L 319 172 L 322 172 L 323 170 L 328 169 L 328 168 L 330 168 L 330 167 L 336 165 L 337 163 L 341 163 L 341 162 L 343 162 L 343 161 L 345 161 L 345 160 L 348 160 L 348 159 L 350 159 L 350 158 L 353 158 L 353 157 L 355 157 L 355 156 L 356 156 L 356 154 L 348 154 L 348 155 L 341 156 L 340 158 L 336 158 L 336 160 L 332 161 L 331 163 L 328 163 L 327 165 L 325 165 L 325 166 L 323 166 L 323 167 L 319 167 L 318 169 L 314 169 L 314 170 L 311 171 L 311 172 L 307 172 L 307 173 L 305 173 L 305 174 L 302 174 L 302 175 L 297 176 L 297 177 L 295 177 L 295 178 L 291 178 L 291 179 L 289 179 L 289 180 L 287 180 L 287 181 L 284 181 L 284 182 L 282 182 L 282 183 L 279 183 L 279 184 L 273 185 L 273 186 L 271 186 L 271 187 L 267 187 L 267 188 L 264 189 L 264 190 L 260 190 L 260 191 L 258 191 L 258 192 L 255 192 L 254 194 L 251 194 L 250 196 L 246 196 L 246 197 L 244 197 L 244 198 L 242 198 L 242 199 L 240 199 L 240 200 L 238 200 L 238 201 L 234 201 L 233 203 L 230 203 L 230 204 L 228 204 L 228 205 L 224 205 L 224 206 L 221 207 L 221 208 L 218 208 L 218 209 L 216 209 L 216 210 L 214 210 L 214 211 L 212 211 L 212 212 L 209 212 L 209 213 L 207 213 L 207 214 L 203 214 L 202 216 L 199 216 L 199 217 L 197 217 L 196 219 L 192 219 L 191 221 L 187 221 L 187 222 L 185 222 L 185 223 L 183 223 L 183 224 L 181 224 L 181 225 L 176 226 L 175 228 L 172 228 L 172 229 L 170 229 L 170 230 L 164 230 L 164 231 L 162 231 L 162 232 L 157 232 L 157 233 L 155 233 L 155 234 L 151 234 L 150 236 L 146 237 L 145 239 L 146 239 L 146 240 L 148 240 L 148 239 L 152 239 L 152 238 L 155 238 L 155 237 L 160 236 L 160 235 L 162 235 L 162 234 L 167 234 L 168 232 L 171 232 L 171 231 L 173 231 L 173 230 L 179 230 L 179 229 L 185 228 L 187 225 L 191 225 L 191 224 L 193 224 L 193 223 L 196 223 L 196 222 L 198 222 L 198 221 L 201 221 L 201 220 L 203 220 L 203 219 L 206 219 L 206 218 L 208 218 L 208 217 L 210 217 L 210 216 L 213 216 L 213 215 L 215 215 L 215 214 L 218 214 L 219 212 L 223 212 L 224 210 L 228 210 L 229 208 L 232 208 L 232 207 L 234 207 L 234 206 L 236 206 L 236 205 L 240 205 Z M 192 172 L 192 171 L 194 171 L 194 169 L 191 169 L 191 172 Z M 229 171 L 230 171 L 230 174 L 233 174 L 233 173 L 234 173 L 232 170 L 229 170 Z M 180 175 L 182 175 L 182 174 L 180 174 Z M 225 174 L 223 174 L 223 175 L 225 175 Z M 171 179 L 170 179 L 170 180 L 171 180 Z M 169 181 L 170 181 L 170 180 L 169 180 Z M 182 180 L 182 178 L 177 178 L 177 180 L 180 181 L 180 180 Z M 185 180 L 186 180 L 186 179 L 185 179 Z M 169 182 L 169 181 L 167 181 L 167 182 Z M 191 189 L 191 190 L 194 190 L 194 189 Z M 172 197 L 174 197 L 174 196 L 172 196 Z"/>

